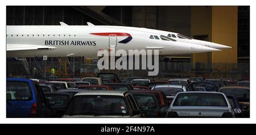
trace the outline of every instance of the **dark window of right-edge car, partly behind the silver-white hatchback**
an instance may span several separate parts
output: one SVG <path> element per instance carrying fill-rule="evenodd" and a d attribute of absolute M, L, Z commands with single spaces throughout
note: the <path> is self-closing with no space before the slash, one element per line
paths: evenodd
<path fill-rule="evenodd" d="M 238 101 L 250 100 L 250 92 L 247 89 L 222 89 L 220 92 L 226 95 L 235 95 Z"/>

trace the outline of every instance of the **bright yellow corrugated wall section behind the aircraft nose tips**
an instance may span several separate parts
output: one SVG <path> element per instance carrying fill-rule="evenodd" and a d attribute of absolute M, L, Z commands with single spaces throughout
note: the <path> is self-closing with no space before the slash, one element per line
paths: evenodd
<path fill-rule="evenodd" d="M 212 53 L 212 63 L 237 63 L 237 6 L 212 7 L 212 42 L 231 46 Z"/>

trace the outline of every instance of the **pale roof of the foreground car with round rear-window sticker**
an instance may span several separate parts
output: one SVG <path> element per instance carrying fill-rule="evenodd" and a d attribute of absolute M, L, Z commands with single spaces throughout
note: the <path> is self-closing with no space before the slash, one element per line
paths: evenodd
<path fill-rule="evenodd" d="M 119 95 L 124 96 L 124 94 L 127 93 L 126 91 L 119 91 L 119 90 L 89 90 L 85 92 L 80 92 L 75 94 L 77 95 Z"/>

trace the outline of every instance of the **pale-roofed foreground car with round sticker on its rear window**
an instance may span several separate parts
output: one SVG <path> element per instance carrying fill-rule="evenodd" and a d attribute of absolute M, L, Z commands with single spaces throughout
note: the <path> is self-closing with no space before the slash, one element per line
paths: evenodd
<path fill-rule="evenodd" d="M 147 107 L 142 107 L 147 109 Z M 129 91 L 92 90 L 74 95 L 63 117 L 139 117 L 139 105 Z"/>

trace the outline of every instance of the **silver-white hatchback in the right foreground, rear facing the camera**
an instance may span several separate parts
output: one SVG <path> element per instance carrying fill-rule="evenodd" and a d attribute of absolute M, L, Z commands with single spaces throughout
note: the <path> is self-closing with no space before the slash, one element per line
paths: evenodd
<path fill-rule="evenodd" d="M 167 117 L 234 117 L 225 94 L 218 92 L 177 93 Z"/>

